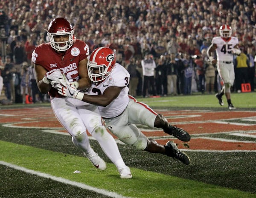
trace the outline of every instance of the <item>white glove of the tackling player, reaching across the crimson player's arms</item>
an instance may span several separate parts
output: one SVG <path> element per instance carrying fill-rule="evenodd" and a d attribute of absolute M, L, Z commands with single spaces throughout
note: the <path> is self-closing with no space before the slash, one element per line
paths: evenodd
<path fill-rule="evenodd" d="M 66 85 L 63 85 L 61 83 L 58 83 L 55 86 L 56 89 L 58 89 L 58 93 L 60 95 L 69 97 L 69 98 L 77 98 L 79 100 L 83 100 L 84 94 L 79 92 L 72 84 L 66 83 Z"/>

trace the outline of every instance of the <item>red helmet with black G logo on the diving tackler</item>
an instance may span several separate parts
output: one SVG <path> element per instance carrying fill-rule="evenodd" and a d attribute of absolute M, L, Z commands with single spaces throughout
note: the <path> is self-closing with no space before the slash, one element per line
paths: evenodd
<path fill-rule="evenodd" d="M 109 47 L 99 47 L 93 50 L 87 63 L 88 76 L 93 82 L 105 80 L 116 64 L 116 55 Z"/>

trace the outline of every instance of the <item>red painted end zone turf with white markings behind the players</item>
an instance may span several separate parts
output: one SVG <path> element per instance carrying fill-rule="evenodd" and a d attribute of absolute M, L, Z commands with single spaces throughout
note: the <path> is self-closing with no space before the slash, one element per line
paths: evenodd
<path fill-rule="evenodd" d="M 146 136 L 155 138 L 160 144 L 173 140 L 180 149 L 187 150 L 256 151 L 255 141 L 236 141 L 235 138 L 218 138 L 218 135 L 215 138 L 207 136 L 221 133 L 256 138 L 256 112 L 161 111 L 161 114 L 166 116 L 169 123 L 188 131 L 192 138 L 184 146 L 184 142 L 160 129 L 141 129 Z M 245 118 L 250 118 L 250 124 L 242 121 Z M 240 121 L 237 122 L 238 120 Z M 7 127 L 31 127 L 37 130 L 51 128 L 65 132 L 50 108 L 2 109 L 0 123 Z"/>

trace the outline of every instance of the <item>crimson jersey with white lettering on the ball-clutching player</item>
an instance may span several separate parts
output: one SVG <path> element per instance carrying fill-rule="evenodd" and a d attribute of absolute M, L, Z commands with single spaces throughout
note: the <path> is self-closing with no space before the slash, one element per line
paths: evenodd
<path fill-rule="evenodd" d="M 73 40 L 73 45 L 65 52 L 57 53 L 50 43 L 42 43 L 32 53 L 32 62 L 41 65 L 47 72 L 52 69 L 60 69 L 70 82 L 79 80 L 79 62 L 89 55 L 89 47 L 82 40 Z M 58 90 L 51 88 L 49 95 L 61 98 Z"/>

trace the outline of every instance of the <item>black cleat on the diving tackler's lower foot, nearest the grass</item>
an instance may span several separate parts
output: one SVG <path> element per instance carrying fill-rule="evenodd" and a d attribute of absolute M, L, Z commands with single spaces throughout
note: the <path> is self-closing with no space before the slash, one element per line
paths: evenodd
<path fill-rule="evenodd" d="M 168 141 L 164 147 L 166 149 L 167 156 L 177 159 L 183 164 L 190 164 L 189 157 L 185 153 L 181 152 L 173 141 Z"/>

